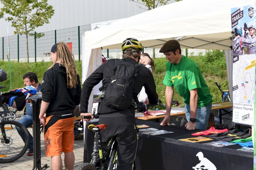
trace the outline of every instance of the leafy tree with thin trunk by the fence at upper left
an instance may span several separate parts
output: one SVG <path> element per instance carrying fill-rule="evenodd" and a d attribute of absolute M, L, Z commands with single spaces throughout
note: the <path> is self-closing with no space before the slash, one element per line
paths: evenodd
<path fill-rule="evenodd" d="M 49 19 L 54 14 L 54 9 L 48 5 L 47 0 L 0 0 L 3 8 L 0 9 L 0 18 L 12 23 L 16 29 L 14 34 L 26 35 L 27 62 L 28 56 L 28 35 L 35 28 L 49 23 Z M 6 17 L 4 17 L 6 15 Z M 38 33 L 37 38 L 44 36 Z"/>

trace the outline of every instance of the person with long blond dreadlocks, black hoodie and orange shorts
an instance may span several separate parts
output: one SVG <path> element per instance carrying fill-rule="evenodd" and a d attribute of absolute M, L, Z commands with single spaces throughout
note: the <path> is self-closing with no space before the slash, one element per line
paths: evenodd
<path fill-rule="evenodd" d="M 71 170 L 74 166 L 74 112 L 81 96 L 81 84 L 73 54 L 64 42 L 51 48 L 52 66 L 44 73 L 42 81 L 42 104 L 39 119 L 44 125 L 46 157 L 51 157 L 53 170 L 62 169 L 64 164 Z M 46 114 L 46 117 L 44 117 Z"/>

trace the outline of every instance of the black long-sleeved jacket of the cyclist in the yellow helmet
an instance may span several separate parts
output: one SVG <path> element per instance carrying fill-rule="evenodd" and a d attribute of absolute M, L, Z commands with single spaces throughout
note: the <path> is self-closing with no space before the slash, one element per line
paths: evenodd
<path fill-rule="evenodd" d="M 126 62 L 131 62 L 136 64 L 136 60 L 133 58 L 125 58 L 123 59 Z M 81 106 L 80 106 L 80 113 L 87 113 L 88 112 L 88 101 L 92 91 L 92 88 L 97 85 L 102 79 L 103 83 L 103 91 L 108 87 L 108 84 L 111 80 L 113 75 L 113 68 L 115 67 L 115 59 L 110 59 L 104 62 L 101 66 L 99 66 L 85 81 L 82 88 L 81 94 Z M 135 80 L 134 85 L 134 92 L 136 95 L 141 91 L 142 87 L 145 87 L 145 92 L 148 95 L 148 101 L 150 104 L 156 104 L 158 95 L 156 93 L 156 86 L 154 82 L 154 78 L 152 73 L 148 70 L 147 67 L 143 67 L 138 72 L 138 75 Z M 135 94 L 134 93 L 134 94 Z M 103 100 L 103 99 L 102 99 Z M 102 102 L 103 103 L 103 102 Z M 106 113 L 113 113 L 118 112 L 119 109 L 114 109 L 105 104 L 100 104 L 98 113 L 99 114 L 106 114 Z"/>

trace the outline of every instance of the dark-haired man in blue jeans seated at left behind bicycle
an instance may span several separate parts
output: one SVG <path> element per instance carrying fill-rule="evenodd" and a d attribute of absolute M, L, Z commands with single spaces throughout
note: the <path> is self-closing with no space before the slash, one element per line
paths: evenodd
<path fill-rule="evenodd" d="M 37 88 L 37 92 L 41 92 L 41 84 L 38 82 L 37 74 L 28 72 L 23 76 L 24 85 L 25 86 L 33 86 Z M 22 116 L 20 120 L 18 120 L 22 125 L 24 125 L 26 128 L 33 125 L 33 110 L 32 110 L 32 103 L 26 103 L 26 115 Z M 17 128 L 18 133 L 20 134 L 21 138 L 25 142 L 25 135 L 21 132 L 20 128 Z M 30 135 L 30 142 L 27 152 L 27 156 L 33 155 L 33 137 Z"/>

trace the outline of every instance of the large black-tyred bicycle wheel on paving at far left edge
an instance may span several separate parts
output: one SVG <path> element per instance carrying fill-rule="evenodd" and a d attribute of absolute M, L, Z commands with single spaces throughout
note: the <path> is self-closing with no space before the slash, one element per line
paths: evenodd
<path fill-rule="evenodd" d="M 10 141 L 9 143 L 5 143 L 2 131 L 0 131 L 0 163 L 10 163 L 18 160 L 27 151 L 30 136 L 26 127 L 20 124 L 19 122 L 13 120 L 6 120 L 3 122 L 3 124 L 6 137 Z M 20 137 L 18 131 L 16 130 L 16 127 L 19 127 L 22 130 L 22 133 L 26 136 L 25 142 Z"/>

